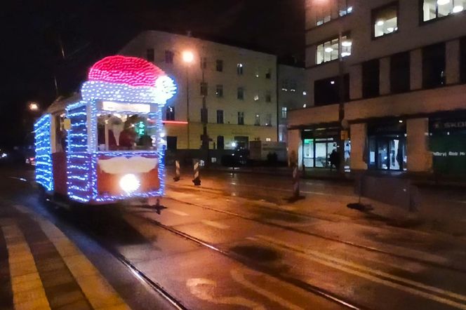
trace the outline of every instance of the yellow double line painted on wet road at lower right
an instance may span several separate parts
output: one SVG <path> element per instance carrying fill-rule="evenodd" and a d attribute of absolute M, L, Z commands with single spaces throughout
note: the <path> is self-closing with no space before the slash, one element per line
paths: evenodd
<path fill-rule="evenodd" d="M 265 242 L 267 242 L 269 244 L 278 246 L 281 250 L 287 250 L 288 252 L 291 252 L 291 253 L 293 253 L 295 255 L 303 257 L 303 258 L 305 258 L 307 260 L 313 260 L 314 262 L 319 262 L 319 264 L 324 264 L 324 265 L 326 265 L 328 267 L 333 267 L 335 269 L 345 271 L 348 274 L 354 274 L 356 276 L 360 276 L 361 278 L 366 278 L 366 279 L 371 280 L 373 282 L 380 283 L 380 284 L 383 284 L 383 285 L 387 285 L 387 286 L 389 286 L 391 288 L 397 288 L 398 290 L 408 292 L 408 293 L 410 293 L 412 295 L 417 295 L 417 296 L 420 296 L 420 297 L 424 297 L 426 299 L 434 300 L 434 301 L 439 302 L 441 304 L 448 304 L 449 306 L 453 306 L 453 307 L 458 308 L 458 309 L 466 310 L 466 304 L 460 304 L 458 302 L 454 302 L 451 299 L 446 299 L 444 297 L 439 297 L 437 295 L 432 295 L 432 294 L 430 294 L 428 292 L 423 292 L 423 291 L 417 290 L 415 288 L 410 288 L 410 287 L 405 286 L 405 285 L 401 285 L 401 284 L 398 284 L 398 283 L 393 283 L 391 281 L 388 281 L 388 280 L 385 280 L 385 279 L 382 279 L 382 278 L 378 278 L 376 276 L 373 276 L 371 274 L 367 274 L 367 273 L 364 273 L 364 272 L 361 272 L 361 271 L 371 272 L 373 274 L 377 274 L 378 276 L 381 276 L 382 274 L 384 274 L 384 277 L 392 278 L 392 280 L 397 280 L 397 281 L 400 281 L 400 282 L 401 282 L 401 280 L 399 280 L 399 279 L 403 279 L 404 281 L 402 281 L 402 282 L 404 282 L 404 283 L 409 283 L 409 284 L 415 283 L 416 284 L 415 286 L 418 286 L 418 288 L 425 288 L 426 290 L 431 290 L 431 288 L 432 288 L 433 292 L 438 292 L 438 293 L 441 293 L 441 294 L 446 295 L 448 297 L 456 298 L 454 296 L 458 296 L 458 297 L 461 297 L 461 298 L 456 298 L 456 299 L 464 299 L 465 298 L 464 296 L 455 294 L 454 292 L 441 290 L 439 288 L 434 288 L 434 287 L 432 287 L 430 285 L 424 285 L 422 283 L 418 283 L 418 282 L 415 282 L 415 281 L 410 281 L 408 279 L 400 278 L 400 277 L 397 277 L 397 276 L 392 276 L 390 274 L 383 273 L 382 271 L 376 271 L 374 269 L 369 269 L 367 267 L 362 267 L 360 265 L 353 264 L 353 263 L 350 263 L 350 262 L 346 262 L 344 260 L 335 259 L 333 257 L 329 257 L 328 255 L 323 255 L 323 254 L 321 254 L 319 252 L 316 252 L 316 251 L 307 250 L 307 249 L 304 249 L 304 248 L 289 245 L 287 243 L 283 243 L 281 241 L 274 240 L 272 238 L 268 238 L 267 236 L 258 235 L 256 237 L 257 238 L 253 237 L 253 238 L 250 238 L 250 239 L 255 240 L 255 241 L 262 240 L 262 241 L 265 241 Z M 322 259 L 322 257 L 326 257 L 326 258 Z M 338 262 L 338 261 L 340 261 L 340 262 Z M 361 271 L 350 269 L 348 267 L 343 266 L 343 264 L 347 265 L 348 267 L 361 269 Z M 355 267 L 355 266 L 358 266 L 358 267 Z M 361 267 L 361 268 L 359 268 L 359 267 Z M 385 276 L 385 275 L 387 275 L 387 276 Z M 413 285 L 413 284 L 411 284 L 411 285 Z"/>

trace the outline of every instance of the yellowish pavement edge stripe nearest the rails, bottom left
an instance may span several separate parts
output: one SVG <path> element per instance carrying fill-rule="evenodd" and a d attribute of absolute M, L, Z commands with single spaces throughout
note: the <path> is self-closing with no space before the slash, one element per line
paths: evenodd
<path fill-rule="evenodd" d="M 72 241 L 69 241 L 60 229 L 22 205 L 15 205 L 15 208 L 22 213 L 28 213 L 39 223 L 42 231 L 55 245 L 58 253 L 94 309 L 131 309 L 114 291 L 112 285 L 105 280 L 98 269 L 76 248 Z"/>

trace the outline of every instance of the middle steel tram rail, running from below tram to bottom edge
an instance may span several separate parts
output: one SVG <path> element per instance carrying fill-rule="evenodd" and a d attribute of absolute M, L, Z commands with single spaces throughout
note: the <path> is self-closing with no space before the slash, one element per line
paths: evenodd
<path fill-rule="evenodd" d="M 331 302 L 335 302 L 336 304 L 340 304 L 340 306 L 345 306 L 348 309 L 354 309 L 354 310 L 368 310 L 368 308 L 364 306 L 360 306 L 355 302 L 347 302 L 342 297 L 338 297 L 337 295 L 333 294 L 332 292 L 328 292 L 327 290 L 324 290 L 323 288 L 319 288 L 315 285 L 305 283 L 303 281 L 298 280 L 297 278 L 291 278 L 288 276 L 283 276 L 281 274 L 277 274 L 277 272 L 274 272 L 273 270 L 264 267 L 257 262 L 254 262 L 253 260 L 250 260 L 246 257 L 243 257 L 241 255 L 234 254 L 232 252 L 229 252 L 227 250 L 222 250 L 220 248 L 216 248 L 215 246 L 207 243 L 206 241 L 202 241 L 201 239 L 191 236 L 189 234 L 186 234 L 182 231 L 179 231 L 178 229 L 174 229 L 173 227 L 169 227 L 167 225 L 161 224 L 161 222 L 158 222 L 156 220 L 149 219 L 143 215 L 137 215 L 131 213 L 133 216 L 140 217 L 143 220 L 146 220 L 147 222 L 150 222 L 152 224 L 157 225 L 158 227 L 161 227 L 162 229 L 166 229 L 167 231 L 170 231 L 173 234 L 176 234 L 178 236 L 181 236 L 182 238 L 187 239 L 188 241 L 192 241 L 194 243 L 197 243 L 198 245 L 201 245 L 205 248 L 208 248 L 210 250 L 213 250 L 215 252 L 218 252 L 225 257 L 228 257 L 231 260 L 234 260 L 235 262 L 239 262 L 240 264 L 244 264 L 246 267 L 254 267 L 257 271 L 260 271 L 264 274 L 267 274 L 269 276 L 272 276 L 274 278 L 279 279 L 280 281 L 284 281 L 286 283 L 289 283 L 291 285 L 295 285 L 298 288 L 301 288 L 302 290 L 305 290 L 307 292 L 311 292 L 314 295 L 319 295 L 321 297 L 324 297 L 325 299 L 330 300 Z"/>

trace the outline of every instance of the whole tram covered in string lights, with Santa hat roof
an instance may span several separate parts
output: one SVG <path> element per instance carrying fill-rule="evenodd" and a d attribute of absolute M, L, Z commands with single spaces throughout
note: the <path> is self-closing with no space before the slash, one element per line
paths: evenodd
<path fill-rule="evenodd" d="M 151 62 L 96 62 L 81 92 L 56 100 L 34 123 L 36 183 L 48 196 L 103 204 L 164 194 L 161 111 L 176 93 Z"/>

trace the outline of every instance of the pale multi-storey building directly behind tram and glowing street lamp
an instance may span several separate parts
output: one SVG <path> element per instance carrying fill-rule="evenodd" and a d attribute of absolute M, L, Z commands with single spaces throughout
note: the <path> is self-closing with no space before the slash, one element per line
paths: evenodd
<path fill-rule="evenodd" d="M 159 31 L 140 33 L 120 53 L 154 62 L 177 83 L 163 115 L 169 150 L 200 149 L 204 124 L 209 149 L 277 141 L 275 55 Z"/>

